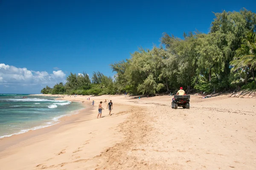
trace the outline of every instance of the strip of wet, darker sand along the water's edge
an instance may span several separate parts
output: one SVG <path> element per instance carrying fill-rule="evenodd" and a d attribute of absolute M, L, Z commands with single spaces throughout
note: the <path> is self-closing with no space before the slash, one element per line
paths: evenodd
<path fill-rule="evenodd" d="M 30 95 L 31 96 L 42 96 L 42 95 L 36 95 L 36 94 L 30 94 Z M 61 97 L 61 98 L 56 98 L 55 100 L 67 100 L 67 99 L 63 99 Z M 80 102 L 80 100 L 70 99 L 70 102 Z M 44 133 L 48 133 L 52 130 L 58 129 L 59 127 L 61 127 L 63 125 L 67 125 L 69 123 L 75 122 L 77 119 L 79 119 L 82 116 L 81 114 L 83 114 L 83 116 L 90 115 L 91 111 L 92 111 L 92 108 L 90 108 L 90 104 L 89 103 L 84 103 L 84 104 L 85 104 L 83 106 L 84 108 L 71 111 L 71 112 L 77 112 L 77 113 L 69 112 L 67 114 L 61 115 L 61 117 L 57 119 L 58 122 L 56 122 L 55 124 L 32 130 L 32 128 L 38 127 L 38 126 L 35 126 L 26 132 L 18 133 L 18 134 L 14 133 L 14 134 L 11 134 L 11 136 L 5 136 L 3 138 L 0 138 L 0 143 L 1 143 L 0 144 L 0 152 L 6 150 L 8 147 L 12 147 L 12 145 L 18 144 L 26 139 L 30 139 L 32 137 L 39 136 Z M 88 120 L 90 120 L 90 119 L 88 119 Z"/>

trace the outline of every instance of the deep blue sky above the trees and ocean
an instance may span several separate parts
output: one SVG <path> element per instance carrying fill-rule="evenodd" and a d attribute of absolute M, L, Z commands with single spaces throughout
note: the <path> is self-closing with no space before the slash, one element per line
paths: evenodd
<path fill-rule="evenodd" d="M 0 0 L 0 93 L 40 93 L 70 72 L 113 76 L 111 63 L 159 45 L 163 32 L 207 33 L 212 12 L 256 12 L 255 6 L 255 0 Z"/>

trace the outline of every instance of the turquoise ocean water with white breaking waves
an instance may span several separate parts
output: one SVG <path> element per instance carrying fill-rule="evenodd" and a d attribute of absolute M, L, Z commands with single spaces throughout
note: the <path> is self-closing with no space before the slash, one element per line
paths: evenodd
<path fill-rule="evenodd" d="M 26 96 L 27 98 L 23 98 Z M 55 125 L 84 106 L 56 97 L 0 94 L 0 138 Z"/>

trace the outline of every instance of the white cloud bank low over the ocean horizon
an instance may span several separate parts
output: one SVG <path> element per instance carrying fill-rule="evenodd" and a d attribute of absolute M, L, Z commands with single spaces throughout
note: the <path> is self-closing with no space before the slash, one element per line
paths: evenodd
<path fill-rule="evenodd" d="M 56 83 L 65 83 L 66 74 L 63 71 L 32 71 L 27 68 L 17 68 L 12 65 L 0 64 L 0 91 L 1 87 L 19 88 L 20 86 L 38 87 L 38 93 L 42 87 L 48 85 L 52 87 Z"/>

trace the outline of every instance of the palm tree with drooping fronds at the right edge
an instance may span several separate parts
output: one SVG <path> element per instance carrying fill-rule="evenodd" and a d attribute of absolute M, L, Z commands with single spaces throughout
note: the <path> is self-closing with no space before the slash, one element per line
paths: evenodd
<path fill-rule="evenodd" d="M 256 34 L 249 32 L 242 40 L 241 48 L 236 50 L 236 56 L 230 62 L 234 67 L 231 71 L 248 70 L 252 73 L 252 79 L 256 84 L 254 71 L 256 68 Z"/>

